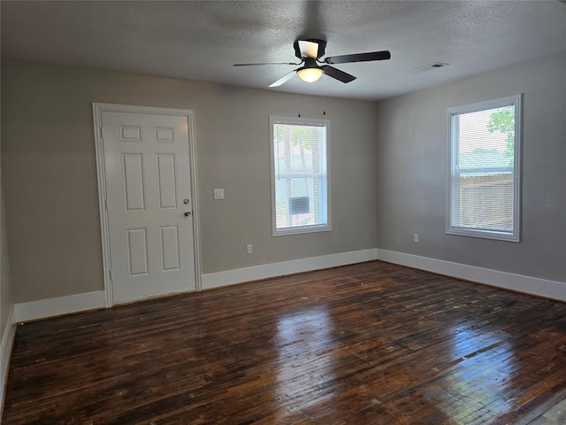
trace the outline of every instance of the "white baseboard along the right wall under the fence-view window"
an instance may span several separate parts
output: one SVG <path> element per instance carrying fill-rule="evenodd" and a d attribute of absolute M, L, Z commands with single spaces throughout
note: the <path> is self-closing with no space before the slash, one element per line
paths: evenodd
<path fill-rule="evenodd" d="M 566 282 L 548 281 L 523 274 L 500 272 L 397 251 L 377 250 L 377 259 L 471 282 L 484 283 L 504 290 L 516 290 L 538 297 L 566 301 Z"/>

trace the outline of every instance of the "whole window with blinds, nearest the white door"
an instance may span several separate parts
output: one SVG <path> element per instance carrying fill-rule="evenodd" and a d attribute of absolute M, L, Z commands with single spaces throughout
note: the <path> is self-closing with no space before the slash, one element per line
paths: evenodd
<path fill-rule="evenodd" d="M 273 236 L 330 230 L 328 120 L 270 117 Z"/>

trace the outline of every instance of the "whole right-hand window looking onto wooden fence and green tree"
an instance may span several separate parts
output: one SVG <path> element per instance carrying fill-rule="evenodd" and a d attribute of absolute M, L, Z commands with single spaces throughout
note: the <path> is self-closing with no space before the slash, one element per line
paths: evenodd
<path fill-rule="evenodd" d="M 518 242 L 521 95 L 447 109 L 447 233 Z"/>

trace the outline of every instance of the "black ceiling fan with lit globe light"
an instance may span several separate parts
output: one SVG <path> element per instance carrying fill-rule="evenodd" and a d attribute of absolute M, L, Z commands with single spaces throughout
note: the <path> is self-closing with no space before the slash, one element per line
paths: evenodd
<path fill-rule="evenodd" d="M 386 60 L 391 58 L 389 50 L 371 51 L 368 53 L 355 53 L 352 55 L 334 56 L 321 59 L 325 56 L 326 42 L 324 40 L 309 39 L 297 40 L 293 43 L 294 56 L 301 59 L 301 62 L 264 62 L 258 64 L 234 64 L 234 66 L 255 66 L 255 65 L 294 65 L 300 66 L 290 73 L 285 74 L 278 81 L 275 81 L 269 87 L 278 87 L 286 81 L 294 77 L 294 73 L 298 73 L 302 81 L 317 81 L 322 74 L 325 73 L 329 77 L 342 82 L 350 82 L 356 80 L 356 77 L 350 73 L 340 71 L 330 65 L 347 64 L 351 62 L 369 62 L 372 60 Z M 319 66 L 318 64 L 325 64 Z"/>

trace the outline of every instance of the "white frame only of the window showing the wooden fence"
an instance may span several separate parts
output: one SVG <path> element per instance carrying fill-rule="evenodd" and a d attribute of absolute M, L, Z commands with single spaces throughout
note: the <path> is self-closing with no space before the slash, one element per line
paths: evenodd
<path fill-rule="evenodd" d="M 473 236 L 486 239 L 496 239 L 500 241 L 520 242 L 521 228 L 521 147 L 522 147 L 522 94 L 508 97 L 498 97 L 495 99 L 476 102 L 473 104 L 463 104 L 450 107 L 446 110 L 447 126 L 447 213 L 446 213 L 446 233 L 457 236 Z M 458 174 L 457 170 L 457 146 L 459 140 L 453 137 L 452 117 L 455 114 L 480 112 L 489 109 L 501 108 L 515 105 L 515 141 L 513 157 L 513 230 L 511 232 L 489 230 L 483 228 L 471 228 L 456 226 L 453 224 L 453 201 L 455 200 L 455 189 L 453 188 L 453 176 Z"/>

